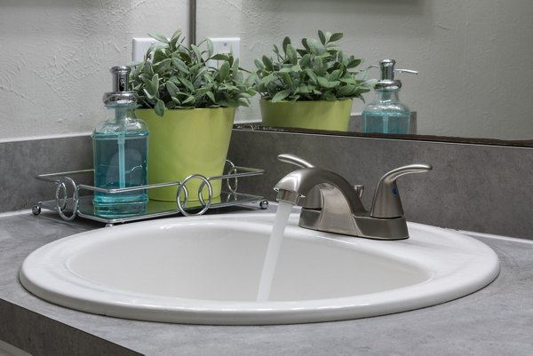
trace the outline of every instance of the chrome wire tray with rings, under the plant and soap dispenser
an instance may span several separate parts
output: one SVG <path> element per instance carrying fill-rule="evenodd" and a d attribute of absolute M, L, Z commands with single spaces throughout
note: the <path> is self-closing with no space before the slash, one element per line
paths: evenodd
<path fill-rule="evenodd" d="M 262 175 L 265 170 L 235 166 L 235 164 L 230 161 L 227 161 L 227 166 L 229 169 L 227 170 L 227 173 L 222 176 L 205 178 L 202 175 L 194 174 L 188 176 L 183 181 L 115 189 L 104 189 L 84 184 L 78 185 L 74 178 L 72 178 L 83 175 L 92 175 L 94 170 L 73 170 L 60 173 L 40 174 L 36 176 L 37 179 L 52 182 L 56 185 L 55 199 L 45 202 L 37 202 L 34 205 L 32 212 L 35 215 L 39 215 L 42 209 L 46 209 L 58 212 L 60 217 L 64 220 L 73 220 L 76 217 L 80 217 L 96 220 L 106 223 L 107 225 L 115 225 L 117 223 L 137 221 L 147 218 L 160 218 L 176 214 L 182 214 L 184 216 L 202 215 L 205 211 L 210 209 L 226 208 L 244 203 L 259 202 L 259 207 L 261 209 L 267 209 L 268 202 L 264 197 L 237 193 L 238 178 L 259 176 Z M 199 188 L 199 200 L 191 201 L 188 199 L 187 186 L 185 186 L 185 184 L 188 180 L 195 178 L 200 179 L 203 182 Z M 223 189 L 219 197 L 213 197 L 211 181 L 217 179 L 226 180 L 227 190 Z M 92 206 L 91 192 L 119 194 L 136 190 L 148 190 L 161 186 L 178 186 L 176 202 L 150 200 L 147 202 L 146 207 L 143 207 L 144 209 L 141 213 L 113 217 L 97 214 Z M 205 188 L 207 188 L 209 193 L 207 200 L 205 200 L 202 194 L 200 194 Z M 85 191 L 88 194 L 80 194 L 82 191 Z"/>

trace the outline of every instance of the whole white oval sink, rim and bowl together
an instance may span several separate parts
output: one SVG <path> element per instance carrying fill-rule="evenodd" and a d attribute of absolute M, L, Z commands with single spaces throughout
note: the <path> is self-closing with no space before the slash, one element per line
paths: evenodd
<path fill-rule="evenodd" d="M 168 218 L 78 233 L 36 249 L 20 269 L 57 305 L 135 320 L 258 325 L 347 320 L 437 305 L 499 272 L 488 246 L 409 224 L 374 241 L 298 227 L 291 215 L 270 297 L 256 301 L 274 214 Z"/>

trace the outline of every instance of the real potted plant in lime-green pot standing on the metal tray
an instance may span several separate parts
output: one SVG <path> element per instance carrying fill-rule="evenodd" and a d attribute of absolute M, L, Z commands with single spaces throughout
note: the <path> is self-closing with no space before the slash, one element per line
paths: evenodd
<path fill-rule="evenodd" d="M 233 55 L 213 53 L 211 40 L 183 44 L 181 30 L 171 38 L 149 35 L 163 43 L 134 65 L 130 83 L 139 99 L 136 114 L 148 126 L 148 184 L 206 178 L 223 173 L 235 107 L 247 107 L 254 78 L 245 78 Z M 210 67 L 208 60 L 218 60 Z M 189 200 L 197 200 L 199 179 L 187 183 Z M 220 180 L 211 182 L 213 197 Z M 177 186 L 149 189 L 150 199 L 174 201 Z M 207 189 L 204 189 L 204 194 Z M 195 198 L 196 197 L 196 198 Z M 203 195 L 205 198 L 205 195 Z"/>

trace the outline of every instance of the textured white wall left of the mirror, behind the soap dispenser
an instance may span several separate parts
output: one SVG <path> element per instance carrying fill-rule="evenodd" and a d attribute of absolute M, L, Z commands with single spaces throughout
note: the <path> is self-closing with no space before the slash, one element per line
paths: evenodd
<path fill-rule="evenodd" d="M 83 133 L 131 39 L 187 29 L 187 0 L 0 1 L 0 140 Z"/>

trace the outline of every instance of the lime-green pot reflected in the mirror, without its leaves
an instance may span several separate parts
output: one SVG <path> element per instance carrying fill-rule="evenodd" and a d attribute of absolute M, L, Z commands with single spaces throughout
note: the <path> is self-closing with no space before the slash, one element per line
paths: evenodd
<path fill-rule="evenodd" d="M 265 126 L 298 129 L 347 131 L 352 99 L 281 101 L 261 99 L 261 118 Z"/>

